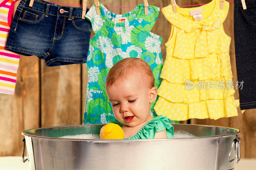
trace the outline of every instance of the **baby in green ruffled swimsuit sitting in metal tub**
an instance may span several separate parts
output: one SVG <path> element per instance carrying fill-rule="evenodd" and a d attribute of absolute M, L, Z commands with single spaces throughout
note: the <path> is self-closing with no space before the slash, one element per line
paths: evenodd
<path fill-rule="evenodd" d="M 106 92 L 115 121 L 124 131 L 124 139 L 172 138 L 170 119 L 150 115 L 150 104 L 157 97 L 155 79 L 148 63 L 140 58 L 125 58 L 108 73 Z"/>

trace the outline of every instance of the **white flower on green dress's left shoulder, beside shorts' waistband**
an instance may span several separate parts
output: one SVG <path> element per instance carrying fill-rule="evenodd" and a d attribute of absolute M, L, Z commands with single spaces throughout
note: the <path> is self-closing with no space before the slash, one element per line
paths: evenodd
<path fill-rule="evenodd" d="M 92 30 L 93 31 L 99 31 L 101 26 L 103 26 L 103 19 L 101 18 L 101 15 L 97 15 L 97 11 L 95 6 L 90 9 L 87 14 L 85 15 L 86 18 L 90 19 L 92 22 Z"/>

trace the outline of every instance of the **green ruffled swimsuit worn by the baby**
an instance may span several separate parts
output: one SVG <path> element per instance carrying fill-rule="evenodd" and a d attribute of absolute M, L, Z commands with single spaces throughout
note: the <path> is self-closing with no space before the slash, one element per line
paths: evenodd
<path fill-rule="evenodd" d="M 120 123 L 118 120 L 108 121 L 108 123 L 115 123 L 119 126 L 123 126 L 123 123 Z M 151 121 L 148 121 L 140 131 L 133 137 L 124 138 L 124 139 L 154 139 L 156 132 L 160 132 L 166 129 L 167 138 L 173 137 L 173 126 L 171 125 L 170 119 L 166 116 L 157 116 Z"/>

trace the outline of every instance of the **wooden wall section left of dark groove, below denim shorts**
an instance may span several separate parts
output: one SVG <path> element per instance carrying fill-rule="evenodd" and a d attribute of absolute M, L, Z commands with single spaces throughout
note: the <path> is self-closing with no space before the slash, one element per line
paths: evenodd
<path fill-rule="evenodd" d="M 0 156 L 21 155 L 21 132 L 39 127 L 39 90 L 39 59 L 21 55 L 14 95 L 0 94 Z"/>

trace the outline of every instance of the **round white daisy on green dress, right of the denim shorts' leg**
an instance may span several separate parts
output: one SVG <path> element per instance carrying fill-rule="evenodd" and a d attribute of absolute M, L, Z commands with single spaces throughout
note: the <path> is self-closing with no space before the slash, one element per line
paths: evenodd
<path fill-rule="evenodd" d="M 100 49 L 100 51 L 105 54 L 111 53 L 114 47 L 110 38 L 102 36 L 99 37 L 97 46 Z"/>

